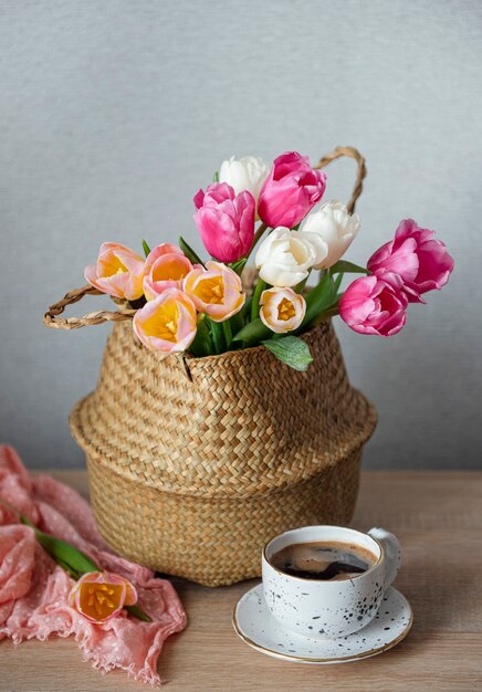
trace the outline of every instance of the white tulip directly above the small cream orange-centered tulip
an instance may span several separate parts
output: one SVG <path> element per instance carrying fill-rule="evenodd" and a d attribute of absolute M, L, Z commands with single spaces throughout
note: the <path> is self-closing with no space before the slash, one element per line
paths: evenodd
<path fill-rule="evenodd" d="M 261 243 L 255 264 L 266 283 L 292 287 L 306 279 L 312 266 L 323 262 L 327 252 L 326 243 L 315 233 L 279 227 Z"/>

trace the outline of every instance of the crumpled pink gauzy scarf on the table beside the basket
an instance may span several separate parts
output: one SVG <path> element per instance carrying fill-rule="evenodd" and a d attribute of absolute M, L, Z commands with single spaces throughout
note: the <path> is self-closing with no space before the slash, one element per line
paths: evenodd
<path fill-rule="evenodd" d="M 117 557 L 105 545 L 88 504 L 71 487 L 48 475 L 30 478 L 19 457 L 0 447 L 0 497 L 27 515 L 42 531 L 69 542 L 102 569 L 116 573 L 137 588 L 139 607 L 151 622 L 123 610 L 104 625 L 92 625 L 67 602 L 74 580 L 0 504 L 0 639 L 46 639 L 73 635 L 84 659 L 108 672 L 114 668 L 159 685 L 157 659 L 167 637 L 186 627 L 186 614 L 171 584 Z"/>

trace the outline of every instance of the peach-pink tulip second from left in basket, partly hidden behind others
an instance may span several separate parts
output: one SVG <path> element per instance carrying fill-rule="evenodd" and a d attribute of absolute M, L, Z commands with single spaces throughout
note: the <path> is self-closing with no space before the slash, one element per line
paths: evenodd
<path fill-rule="evenodd" d="M 148 301 L 154 301 L 167 289 L 182 289 L 182 280 L 191 269 L 192 264 L 177 245 L 163 243 L 154 248 L 144 268 L 144 295 Z"/>

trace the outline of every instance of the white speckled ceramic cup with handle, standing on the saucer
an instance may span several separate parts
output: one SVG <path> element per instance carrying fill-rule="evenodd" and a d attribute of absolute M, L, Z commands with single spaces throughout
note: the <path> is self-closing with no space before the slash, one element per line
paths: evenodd
<path fill-rule="evenodd" d="M 270 558 L 287 545 L 313 542 L 347 543 L 368 549 L 375 564 L 352 579 L 321 580 L 287 575 Z M 272 538 L 262 556 L 264 598 L 273 617 L 285 628 L 305 637 L 346 637 L 370 622 L 384 593 L 400 568 L 398 539 L 384 528 L 368 534 L 342 526 L 304 526 Z"/>

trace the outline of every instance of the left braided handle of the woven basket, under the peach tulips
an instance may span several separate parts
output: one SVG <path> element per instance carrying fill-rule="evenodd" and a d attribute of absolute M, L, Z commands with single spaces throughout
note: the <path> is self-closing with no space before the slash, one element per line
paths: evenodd
<path fill-rule="evenodd" d="M 88 313 L 83 317 L 59 317 L 67 305 L 73 305 L 86 295 L 104 295 L 102 291 L 97 291 L 94 286 L 87 285 L 82 289 L 75 289 L 69 291 L 64 297 L 51 305 L 43 316 L 43 324 L 53 329 L 78 329 L 80 327 L 87 327 L 94 324 L 103 324 L 104 322 L 123 322 L 124 319 L 132 319 L 137 311 L 135 310 L 119 310 L 111 312 L 107 310 L 99 310 L 95 313 Z"/>

